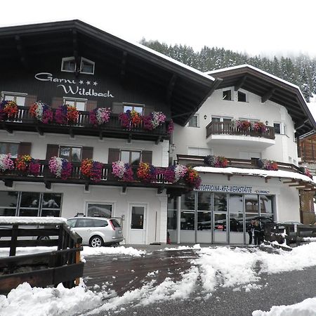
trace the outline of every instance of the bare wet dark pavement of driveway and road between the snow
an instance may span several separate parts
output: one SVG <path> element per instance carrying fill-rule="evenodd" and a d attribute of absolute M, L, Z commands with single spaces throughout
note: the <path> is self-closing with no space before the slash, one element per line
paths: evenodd
<path fill-rule="evenodd" d="M 197 258 L 193 250 L 154 251 L 138 258 L 89 256 L 86 257 L 84 277 L 88 287 L 94 284 L 102 287 L 107 282 L 121 296 L 125 291 L 142 287 L 143 282 L 150 279 L 147 273 L 154 270 L 159 270 L 155 275 L 157 283 L 163 282 L 166 277 L 177 281 L 181 278 L 180 272 L 190 268 L 190 259 L 193 258 Z M 113 278 L 113 275 L 116 277 Z M 207 299 L 202 294 L 202 286 L 197 284 L 195 292 L 186 300 L 163 301 L 145 306 L 135 306 L 135 302 L 124 305 L 124 310 L 119 307 L 118 310 L 95 315 L 251 315 L 254 310 L 270 310 L 272 305 L 291 305 L 316 296 L 316 266 L 301 271 L 261 275 L 261 280 L 256 284 L 263 287 L 249 292 L 219 287 Z"/>

